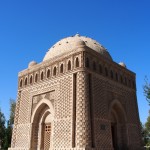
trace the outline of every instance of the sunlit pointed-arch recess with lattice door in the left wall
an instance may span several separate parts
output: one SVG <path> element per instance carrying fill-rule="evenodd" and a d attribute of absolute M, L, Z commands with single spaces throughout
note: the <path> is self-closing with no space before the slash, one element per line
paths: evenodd
<path fill-rule="evenodd" d="M 54 109 L 48 99 L 42 99 L 31 117 L 31 150 L 49 150 L 52 148 Z"/>

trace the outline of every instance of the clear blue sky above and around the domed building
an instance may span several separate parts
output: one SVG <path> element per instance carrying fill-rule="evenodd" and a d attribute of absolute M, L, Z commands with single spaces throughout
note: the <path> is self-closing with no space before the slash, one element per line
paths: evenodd
<path fill-rule="evenodd" d="M 18 72 L 32 60 L 41 62 L 48 48 L 76 33 L 104 45 L 113 60 L 123 61 L 137 75 L 142 122 L 149 106 L 143 94 L 150 79 L 149 0 L 1 0 L 0 107 L 9 116 L 16 99 Z"/>

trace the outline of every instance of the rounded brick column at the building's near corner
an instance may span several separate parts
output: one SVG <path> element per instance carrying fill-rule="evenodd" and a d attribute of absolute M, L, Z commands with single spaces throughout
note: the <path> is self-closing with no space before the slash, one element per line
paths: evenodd
<path fill-rule="evenodd" d="M 76 84 L 76 147 L 91 148 L 91 118 L 89 105 L 89 76 L 77 73 Z"/>

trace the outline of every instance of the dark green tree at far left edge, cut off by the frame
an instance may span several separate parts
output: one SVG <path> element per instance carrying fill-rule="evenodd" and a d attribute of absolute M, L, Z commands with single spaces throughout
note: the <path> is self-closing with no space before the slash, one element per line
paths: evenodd
<path fill-rule="evenodd" d="M 0 149 L 4 148 L 5 142 L 5 116 L 0 109 Z"/>

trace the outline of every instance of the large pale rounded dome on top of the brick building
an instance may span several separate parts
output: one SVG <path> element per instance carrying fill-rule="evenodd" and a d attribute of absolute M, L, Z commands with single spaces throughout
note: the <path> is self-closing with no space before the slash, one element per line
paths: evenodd
<path fill-rule="evenodd" d="M 55 45 L 53 45 L 46 53 L 43 61 L 71 52 L 72 50 L 76 49 L 79 45 L 85 45 L 91 48 L 92 50 L 98 52 L 105 58 L 112 60 L 109 52 L 96 40 L 76 34 L 75 36 L 64 38 L 58 41 Z"/>

